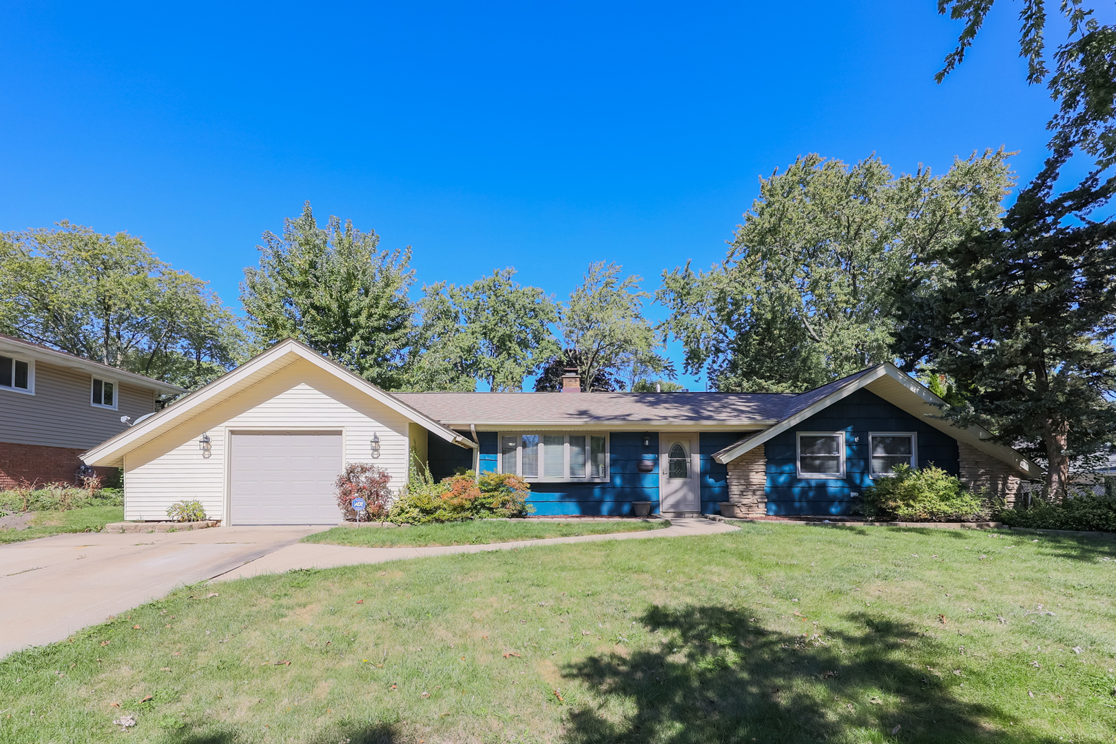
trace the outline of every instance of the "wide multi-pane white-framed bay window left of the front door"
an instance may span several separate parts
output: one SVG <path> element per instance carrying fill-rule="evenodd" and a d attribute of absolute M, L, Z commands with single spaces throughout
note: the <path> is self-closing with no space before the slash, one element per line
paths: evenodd
<path fill-rule="evenodd" d="M 500 472 L 529 481 L 608 480 L 605 434 L 500 434 Z"/>

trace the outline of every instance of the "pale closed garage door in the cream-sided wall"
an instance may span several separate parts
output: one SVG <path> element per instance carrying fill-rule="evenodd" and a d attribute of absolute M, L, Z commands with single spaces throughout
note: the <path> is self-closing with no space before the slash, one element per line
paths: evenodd
<path fill-rule="evenodd" d="M 337 524 L 340 433 L 233 434 L 233 524 Z"/>

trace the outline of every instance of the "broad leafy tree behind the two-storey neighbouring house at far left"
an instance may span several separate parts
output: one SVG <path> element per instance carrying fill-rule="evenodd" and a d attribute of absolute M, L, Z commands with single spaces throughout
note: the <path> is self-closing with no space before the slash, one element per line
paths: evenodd
<path fill-rule="evenodd" d="M 67 221 L 0 235 L 0 330 L 187 388 L 229 369 L 243 341 L 206 282 L 140 238 Z"/>

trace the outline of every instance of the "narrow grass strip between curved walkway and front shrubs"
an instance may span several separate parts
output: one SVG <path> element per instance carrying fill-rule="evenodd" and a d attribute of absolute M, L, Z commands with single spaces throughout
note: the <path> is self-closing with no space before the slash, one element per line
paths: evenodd
<path fill-rule="evenodd" d="M 610 532 L 641 532 L 670 526 L 666 520 L 652 522 L 551 522 L 535 520 L 472 520 L 446 524 L 417 524 L 414 526 L 338 526 L 318 532 L 302 542 L 328 542 L 336 545 L 363 548 L 422 548 L 429 545 L 487 545 L 516 540 L 543 540 L 546 538 L 574 538 L 583 534 Z"/>

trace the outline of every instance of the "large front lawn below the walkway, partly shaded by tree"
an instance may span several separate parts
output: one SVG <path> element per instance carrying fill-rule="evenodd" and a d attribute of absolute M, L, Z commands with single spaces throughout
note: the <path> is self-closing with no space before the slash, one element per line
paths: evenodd
<path fill-rule="evenodd" d="M 1112 742 L 1114 600 L 1114 541 L 968 530 L 297 571 L 6 658 L 0 741 Z"/>

